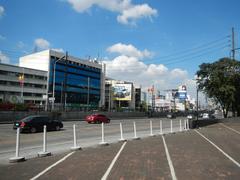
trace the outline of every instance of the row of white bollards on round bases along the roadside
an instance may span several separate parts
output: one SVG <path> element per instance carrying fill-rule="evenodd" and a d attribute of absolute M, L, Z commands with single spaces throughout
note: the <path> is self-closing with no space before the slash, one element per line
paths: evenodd
<path fill-rule="evenodd" d="M 159 134 L 164 134 L 163 132 L 163 124 L 162 124 L 162 120 L 159 121 Z M 184 120 L 184 125 L 183 125 L 183 129 L 189 130 L 189 120 Z M 101 124 L 102 127 L 102 139 L 101 142 L 99 143 L 100 145 L 108 145 L 107 142 L 105 142 L 105 137 L 104 137 L 104 123 Z M 179 131 L 182 132 L 182 120 L 179 120 Z M 136 129 L 136 122 L 133 122 L 133 131 L 134 131 L 134 137 L 133 139 L 140 139 L 137 136 L 137 129 Z M 170 121 L 170 132 L 173 133 L 173 122 L 172 120 Z M 150 120 L 150 136 L 154 136 L 153 134 L 153 124 L 152 124 L 152 120 Z M 120 139 L 119 141 L 126 141 L 126 139 L 124 139 L 123 137 L 123 127 L 122 127 L 122 123 L 120 123 Z M 20 128 L 17 128 L 17 135 L 16 135 L 16 154 L 15 157 L 12 157 L 9 159 L 9 162 L 20 162 L 20 161 L 24 161 L 25 158 L 19 156 L 19 144 L 20 144 Z M 76 125 L 73 125 L 73 147 L 70 148 L 71 150 L 80 150 L 81 147 L 77 145 L 77 138 L 76 138 Z M 38 157 L 45 157 L 45 156 L 50 156 L 51 152 L 47 151 L 47 127 L 44 126 L 43 128 L 43 151 L 38 153 Z"/>

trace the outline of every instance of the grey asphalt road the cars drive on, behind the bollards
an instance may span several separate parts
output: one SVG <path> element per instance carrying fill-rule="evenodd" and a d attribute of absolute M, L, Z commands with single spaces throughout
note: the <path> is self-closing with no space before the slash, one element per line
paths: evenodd
<path fill-rule="evenodd" d="M 172 120 L 173 132 L 183 129 L 183 119 Z M 119 124 L 122 122 L 123 136 L 125 139 L 134 137 L 133 121 L 136 122 L 137 136 L 146 137 L 150 134 L 150 120 L 153 122 L 153 133 L 159 134 L 160 120 L 164 133 L 170 133 L 170 119 L 120 119 L 112 120 L 105 124 L 105 141 L 108 143 L 117 142 L 120 139 Z M 47 132 L 47 151 L 56 154 L 68 151 L 73 146 L 73 124 L 76 124 L 77 144 L 82 148 L 98 145 L 101 142 L 101 125 L 88 124 L 84 121 L 63 122 L 64 128 L 61 131 Z M 20 156 L 26 159 L 36 157 L 38 152 L 42 151 L 43 133 L 22 133 L 20 134 Z M 0 164 L 6 164 L 9 158 L 15 156 L 16 130 L 12 129 L 11 124 L 0 125 Z"/>

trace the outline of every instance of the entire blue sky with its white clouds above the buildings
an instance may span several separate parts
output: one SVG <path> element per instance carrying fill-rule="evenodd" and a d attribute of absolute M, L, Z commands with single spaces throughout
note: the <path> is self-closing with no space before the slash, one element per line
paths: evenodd
<path fill-rule="evenodd" d="M 201 63 L 229 56 L 232 27 L 239 42 L 239 7 L 239 0 L 0 0 L 0 58 L 17 64 L 34 49 L 54 48 L 99 57 L 108 76 L 145 87 L 191 86 Z"/>

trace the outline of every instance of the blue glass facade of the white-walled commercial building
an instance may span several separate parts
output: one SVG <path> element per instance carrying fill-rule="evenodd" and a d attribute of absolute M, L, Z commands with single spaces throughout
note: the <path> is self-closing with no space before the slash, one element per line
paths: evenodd
<path fill-rule="evenodd" d="M 49 93 L 53 91 L 53 72 L 56 59 L 51 57 Z M 97 107 L 101 93 L 101 69 L 61 60 L 55 66 L 55 103 L 89 105 Z"/>

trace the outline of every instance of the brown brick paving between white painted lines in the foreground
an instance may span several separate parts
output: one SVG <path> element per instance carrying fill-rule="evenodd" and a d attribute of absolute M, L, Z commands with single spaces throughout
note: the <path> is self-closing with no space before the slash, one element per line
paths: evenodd
<path fill-rule="evenodd" d="M 197 131 L 239 163 L 240 123 L 223 125 L 213 124 Z M 164 138 L 177 179 L 240 179 L 240 166 L 196 130 L 168 134 Z M 77 151 L 39 179 L 101 179 L 122 144 Z M 17 176 L 17 179 L 30 179 L 65 155 L 0 166 L 0 179 L 16 179 Z M 172 179 L 162 137 L 128 141 L 108 179 Z"/>

